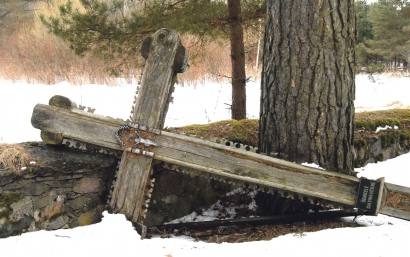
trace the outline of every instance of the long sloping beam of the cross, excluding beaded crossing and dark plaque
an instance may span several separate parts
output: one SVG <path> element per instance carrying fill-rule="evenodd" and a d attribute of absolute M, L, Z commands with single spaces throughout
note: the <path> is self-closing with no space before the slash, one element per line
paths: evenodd
<path fill-rule="evenodd" d="M 37 105 L 35 128 L 101 147 L 122 150 L 114 136 L 123 121 L 47 105 Z M 245 152 L 221 144 L 162 131 L 152 135 L 154 159 L 226 179 L 274 188 L 354 208 L 359 179 Z M 378 211 L 410 220 L 410 189 L 381 183 Z M 377 213 L 377 211 L 376 211 Z"/>

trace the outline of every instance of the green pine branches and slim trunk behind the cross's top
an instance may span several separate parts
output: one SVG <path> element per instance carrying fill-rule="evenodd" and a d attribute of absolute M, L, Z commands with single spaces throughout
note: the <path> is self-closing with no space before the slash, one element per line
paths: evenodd
<path fill-rule="evenodd" d="M 231 46 L 232 118 L 246 118 L 244 29 L 265 16 L 264 0 L 79 0 L 61 5 L 43 23 L 77 53 L 137 58 L 142 39 L 159 28 L 203 40 L 226 38 Z M 226 76 L 226 75 L 225 75 Z"/>

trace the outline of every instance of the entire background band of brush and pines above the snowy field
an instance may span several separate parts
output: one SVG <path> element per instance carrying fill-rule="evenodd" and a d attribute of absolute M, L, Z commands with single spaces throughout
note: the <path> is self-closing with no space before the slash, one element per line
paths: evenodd
<path fill-rule="evenodd" d="M 247 76 L 260 73 L 264 10 L 263 0 L 242 1 Z M 0 77 L 43 83 L 138 78 L 142 37 L 167 26 L 183 34 L 191 55 L 182 81 L 229 78 L 226 14 L 225 1 L 0 0 Z M 409 1 L 358 0 L 356 16 L 357 71 L 407 71 Z"/>

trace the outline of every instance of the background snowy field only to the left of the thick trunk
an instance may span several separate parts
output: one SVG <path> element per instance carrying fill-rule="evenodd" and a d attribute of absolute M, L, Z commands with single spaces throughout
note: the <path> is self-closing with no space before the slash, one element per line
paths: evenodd
<path fill-rule="evenodd" d="M 53 95 L 63 95 L 78 105 L 96 108 L 95 113 L 126 120 L 129 117 L 136 84 L 118 80 L 116 85 L 28 84 L 0 79 L 0 143 L 40 140 L 30 124 L 33 107 L 48 104 Z M 258 82 L 247 86 L 248 117 L 259 117 Z M 230 119 L 231 87 L 228 82 L 199 82 L 195 86 L 176 86 L 165 126 L 178 127 Z"/>

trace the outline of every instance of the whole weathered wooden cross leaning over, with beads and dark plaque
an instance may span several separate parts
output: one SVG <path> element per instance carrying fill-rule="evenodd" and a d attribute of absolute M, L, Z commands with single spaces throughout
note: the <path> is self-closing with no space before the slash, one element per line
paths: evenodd
<path fill-rule="evenodd" d="M 142 52 L 146 65 L 129 124 L 76 109 L 63 97 L 52 98 L 50 105 L 36 105 L 32 124 L 42 131 L 46 143 L 75 140 L 123 151 L 109 206 L 139 224 L 143 234 L 154 159 L 225 180 L 279 190 L 301 201 L 410 220 L 409 188 L 162 131 L 176 74 L 186 66 L 185 49 L 176 32 L 161 29 L 144 42 Z"/>

